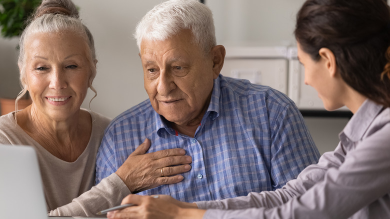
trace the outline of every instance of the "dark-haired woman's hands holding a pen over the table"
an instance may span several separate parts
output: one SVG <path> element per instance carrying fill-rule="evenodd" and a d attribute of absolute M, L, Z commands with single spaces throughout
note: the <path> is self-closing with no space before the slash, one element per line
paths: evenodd
<path fill-rule="evenodd" d="M 157 197 L 157 198 L 156 198 Z M 169 195 L 142 196 L 129 194 L 122 204 L 134 206 L 107 213 L 110 219 L 124 218 L 202 218 L 205 210 L 197 209 L 195 203 L 178 201 Z"/>

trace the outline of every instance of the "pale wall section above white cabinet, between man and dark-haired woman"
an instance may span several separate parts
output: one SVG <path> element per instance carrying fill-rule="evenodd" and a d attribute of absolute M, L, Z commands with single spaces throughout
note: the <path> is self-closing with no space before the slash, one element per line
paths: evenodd
<path fill-rule="evenodd" d="M 206 0 L 214 15 L 218 43 L 295 44 L 295 14 L 304 0 Z"/>

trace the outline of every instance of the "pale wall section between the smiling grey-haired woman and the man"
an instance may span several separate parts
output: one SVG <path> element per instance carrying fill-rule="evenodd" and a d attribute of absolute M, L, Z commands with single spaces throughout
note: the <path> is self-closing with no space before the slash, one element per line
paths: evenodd
<path fill-rule="evenodd" d="M 108 3 L 109 2 L 109 3 Z M 147 98 L 138 48 L 132 37 L 137 21 L 161 0 L 74 0 L 95 39 L 97 97 L 91 109 L 114 117 Z M 88 108 L 89 92 L 83 107 Z"/>

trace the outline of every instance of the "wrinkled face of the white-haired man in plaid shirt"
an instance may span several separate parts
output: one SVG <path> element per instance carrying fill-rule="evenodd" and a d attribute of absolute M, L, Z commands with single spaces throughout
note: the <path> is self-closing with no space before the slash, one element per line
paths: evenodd
<path fill-rule="evenodd" d="M 142 40 L 140 57 L 146 92 L 154 110 L 177 125 L 200 122 L 213 79 L 213 55 L 191 43 L 188 29 L 164 40 Z"/>

